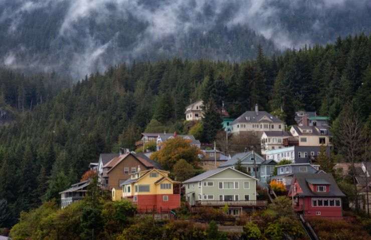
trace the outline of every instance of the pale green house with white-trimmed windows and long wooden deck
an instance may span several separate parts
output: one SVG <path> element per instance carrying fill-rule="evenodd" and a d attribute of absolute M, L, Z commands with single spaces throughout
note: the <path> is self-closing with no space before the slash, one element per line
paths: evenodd
<path fill-rule="evenodd" d="M 229 206 L 229 213 L 239 215 L 245 208 L 266 206 L 256 200 L 258 179 L 232 167 L 219 167 L 192 177 L 183 184 L 191 206 Z"/>

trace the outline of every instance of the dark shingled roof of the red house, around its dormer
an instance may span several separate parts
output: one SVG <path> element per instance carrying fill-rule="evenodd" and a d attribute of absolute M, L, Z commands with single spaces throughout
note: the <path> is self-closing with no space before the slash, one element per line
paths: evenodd
<path fill-rule="evenodd" d="M 294 178 L 292 179 L 292 182 L 297 180 L 297 182 L 300 185 L 300 188 L 303 192 L 296 193 L 296 195 L 299 196 L 345 196 L 344 193 L 340 190 L 340 188 L 337 186 L 335 179 L 331 174 L 327 173 L 295 173 Z M 329 191 L 328 192 L 313 192 L 308 185 L 308 180 L 310 179 L 321 179 L 321 181 L 327 181 L 330 184 Z M 289 191 L 289 194 L 291 192 L 291 189 Z"/>

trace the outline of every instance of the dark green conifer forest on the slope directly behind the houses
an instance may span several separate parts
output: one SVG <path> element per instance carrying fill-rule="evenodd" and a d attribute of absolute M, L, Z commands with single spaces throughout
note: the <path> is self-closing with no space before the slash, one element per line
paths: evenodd
<path fill-rule="evenodd" d="M 120 64 L 54 97 L 53 74 L 24 77 L 4 69 L 1 76 L 3 102 L 19 114 L 0 127 L 0 199 L 8 202 L 10 224 L 20 211 L 58 198 L 99 153 L 134 149 L 152 118 L 182 133 L 184 107 L 200 98 L 224 102 L 233 117 L 257 103 L 287 124 L 299 109 L 331 121 L 351 111 L 362 124 L 371 122 L 371 37 L 364 34 L 272 57 L 258 47 L 256 59 L 241 63 L 174 58 Z"/>

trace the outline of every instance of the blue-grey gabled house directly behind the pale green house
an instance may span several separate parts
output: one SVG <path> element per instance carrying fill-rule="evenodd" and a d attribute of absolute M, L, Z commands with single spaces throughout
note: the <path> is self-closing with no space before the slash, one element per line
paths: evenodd
<path fill-rule="evenodd" d="M 260 178 L 260 167 L 261 163 L 265 161 L 264 157 L 262 157 L 255 151 L 240 152 L 235 154 L 231 159 L 229 159 L 225 163 L 221 164 L 220 167 L 226 166 L 234 167 L 238 161 L 241 161 L 242 167 L 246 168 L 247 174 L 252 175 L 258 179 Z"/>

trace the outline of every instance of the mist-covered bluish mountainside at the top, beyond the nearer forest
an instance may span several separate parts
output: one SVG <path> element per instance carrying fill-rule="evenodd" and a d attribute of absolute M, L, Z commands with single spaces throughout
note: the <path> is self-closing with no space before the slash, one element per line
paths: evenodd
<path fill-rule="evenodd" d="M 82 77 L 133 60 L 243 61 L 370 32 L 368 0 L 3 0 L 0 64 Z"/>

